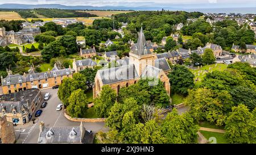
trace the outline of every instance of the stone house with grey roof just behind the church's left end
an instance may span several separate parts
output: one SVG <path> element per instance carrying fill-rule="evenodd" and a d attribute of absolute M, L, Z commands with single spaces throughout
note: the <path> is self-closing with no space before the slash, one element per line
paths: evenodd
<path fill-rule="evenodd" d="M 73 69 L 75 70 L 76 73 L 79 72 L 80 70 L 84 70 L 85 68 L 94 68 L 94 66 L 96 65 L 97 63 L 90 58 L 77 60 L 77 61 L 75 58 L 73 59 Z"/>

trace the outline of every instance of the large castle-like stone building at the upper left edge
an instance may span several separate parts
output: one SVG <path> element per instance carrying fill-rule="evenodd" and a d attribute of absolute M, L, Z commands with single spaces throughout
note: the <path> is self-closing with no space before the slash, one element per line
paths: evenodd
<path fill-rule="evenodd" d="M 41 33 L 39 27 L 24 27 L 18 32 L 5 31 L 5 27 L 0 28 L 0 42 L 5 46 L 8 44 L 34 43 L 34 37 Z"/>

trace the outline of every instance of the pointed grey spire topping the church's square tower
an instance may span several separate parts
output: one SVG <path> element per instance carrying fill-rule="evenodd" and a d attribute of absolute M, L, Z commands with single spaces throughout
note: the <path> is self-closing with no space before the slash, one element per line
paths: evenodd
<path fill-rule="evenodd" d="M 138 33 L 138 36 L 139 37 L 138 37 L 137 45 L 133 53 L 139 56 L 151 54 L 151 52 L 147 48 L 146 39 L 145 39 L 142 27 L 141 27 L 141 31 Z"/>

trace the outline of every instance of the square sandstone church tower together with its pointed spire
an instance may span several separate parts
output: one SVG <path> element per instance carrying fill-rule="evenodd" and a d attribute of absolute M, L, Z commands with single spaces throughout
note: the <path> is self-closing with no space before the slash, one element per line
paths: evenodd
<path fill-rule="evenodd" d="M 138 74 L 141 75 L 147 65 L 155 66 L 156 55 L 149 51 L 142 27 L 138 35 L 137 44 L 129 53 L 129 64 L 134 64 Z"/>

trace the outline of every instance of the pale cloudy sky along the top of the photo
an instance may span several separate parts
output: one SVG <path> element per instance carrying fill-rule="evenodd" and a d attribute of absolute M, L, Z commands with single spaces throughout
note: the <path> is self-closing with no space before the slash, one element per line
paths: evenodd
<path fill-rule="evenodd" d="M 153 6 L 153 7 L 256 7 L 255 0 L 0 0 L 28 5 L 61 4 L 67 6 Z M 256 9 L 256 8 L 255 8 Z"/>

